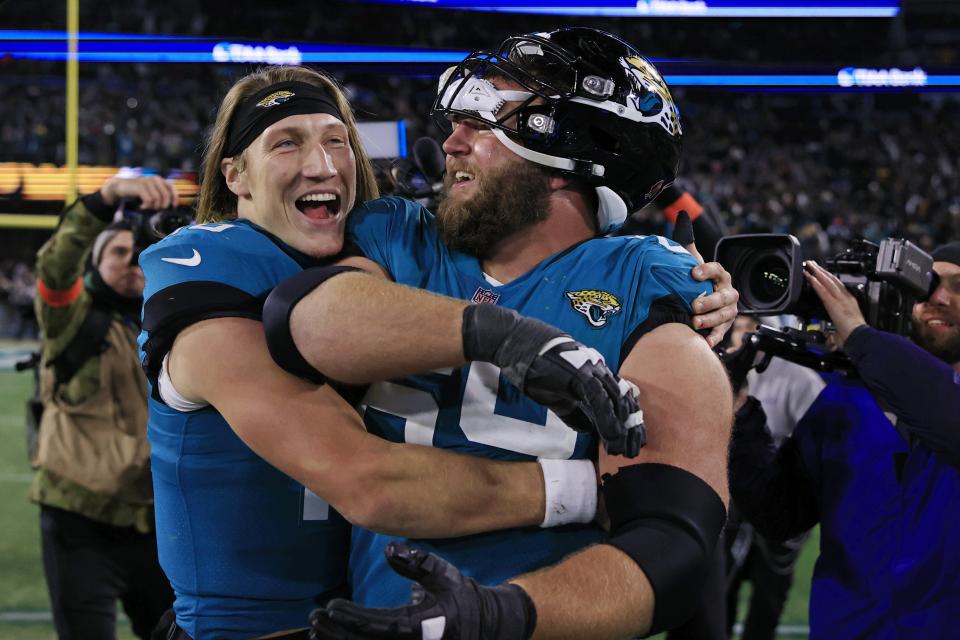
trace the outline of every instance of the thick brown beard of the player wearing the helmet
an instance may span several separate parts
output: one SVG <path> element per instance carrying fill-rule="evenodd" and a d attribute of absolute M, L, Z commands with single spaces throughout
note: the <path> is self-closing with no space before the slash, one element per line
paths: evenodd
<path fill-rule="evenodd" d="M 437 230 L 450 249 L 485 260 L 502 240 L 547 218 L 549 172 L 531 162 L 510 163 L 477 174 L 469 199 L 449 197 L 453 174 L 444 178 Z"/>

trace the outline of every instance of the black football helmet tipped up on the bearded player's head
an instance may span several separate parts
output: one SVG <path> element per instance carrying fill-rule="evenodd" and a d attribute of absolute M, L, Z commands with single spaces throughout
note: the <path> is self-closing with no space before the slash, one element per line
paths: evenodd
<path fill-rule="evenodd" d="M 507 102 L 518 106 L 500 112 Z M 601 233 L 672 183 L 680 163 L 679 112 L 660 73 L 597 29 L 514 36 L 470 54 L 441 77 L 433 114 L 482 120 L 514 153 L 595 186 Z"/>

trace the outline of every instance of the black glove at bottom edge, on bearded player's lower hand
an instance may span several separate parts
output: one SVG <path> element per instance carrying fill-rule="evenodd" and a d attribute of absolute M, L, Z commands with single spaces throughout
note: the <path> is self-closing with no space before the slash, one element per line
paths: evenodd
<path fill-rule="evenodd" d="M 526 640 L 537 610 L 515 584 L 484 587 L 432 553 L 391 542 L 384 553 L 394 571 L 415 580 L 412 603 L 365 609 L 331 600 L 310 614 L 314 640 Z"/>

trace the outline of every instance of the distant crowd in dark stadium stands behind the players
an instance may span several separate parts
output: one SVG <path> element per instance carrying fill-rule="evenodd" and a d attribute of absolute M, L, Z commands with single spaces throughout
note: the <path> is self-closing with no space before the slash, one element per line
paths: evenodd
<path fill-rule="evenodd" d="M 216 0 L 140 0 L 103 15 L 81 7 L 81 25 L 98 31 L 249 38 L 261 41 L 384 44 L 467 50 L 508 31 L 536 31 L 555 19 L 536 15 L 436 11 L 354 1 L 289 4 L 243 12 Z M 10 24 L 62 28 L 24 5 L 2 9 Z M 376 13 L 377 20 L 370 20 Z M 215 19 L 213 18 L 215 16 Z M 471 29 L 458 25 L 469 21 Z M 567 18 L 641 44 L 656 59 L 719 67 L 753 65 L 804 73 L 811 65 L 949 68 L 957 60 L 956 19 L 745 20 L 723 29 L 709 21 Z M 92 28 L 92 26 L 90 27 Z M 708 31 L 709 29 L 709 31 Z M 0 162 L 65 158 L 63 65 L 0 61 Z M 802 66 L 807 65 L 807 66 Z M 215 97 L 245 65 L 82 65 L 80 163 L 135 165 L 164 173 L 195 170 Z M 404 119 L 409 139 L 442 134 L 425 116 L 439 68 L 342 66 L 360 120 Z M 411 77 L 413 76 L 413 77 Z M 211 91 L 212 88 L 218 91 Z M 686 134 L 683 186 L 722 216 L 732 232 L 792 231 L 812 255 L 851 237 L 905 236 L 927 250 L 960 235 L 960 102 L 949 93 L 759 93 L 677 89 Z"/>

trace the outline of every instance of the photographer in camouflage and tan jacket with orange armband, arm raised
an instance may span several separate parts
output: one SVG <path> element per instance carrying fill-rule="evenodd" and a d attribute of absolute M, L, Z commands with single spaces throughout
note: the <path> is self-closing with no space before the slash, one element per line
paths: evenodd
<path fill-rule="evenodd" d="M 43 564 L 57 634 L 115 636 L 120 599 L 147 638 L 173 595 L 157 562 L 147 384 L 137 356 L 143 272 L 122 200 L 176 204 L 159 177 L 111 178 L 63 212 L 37 254 L 43 359 L 37 474 Z M 88 264 L 89 269 L 85 269 Z"/>

